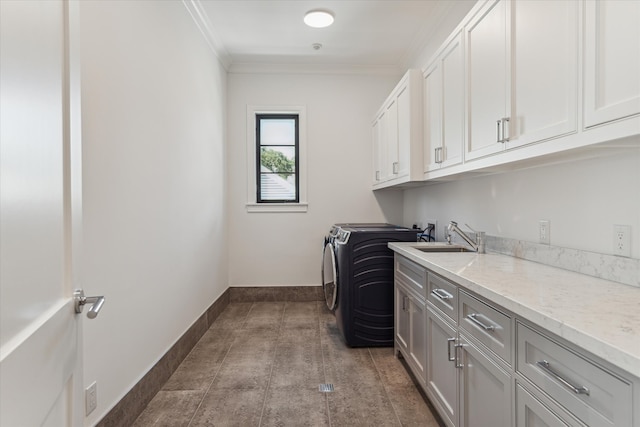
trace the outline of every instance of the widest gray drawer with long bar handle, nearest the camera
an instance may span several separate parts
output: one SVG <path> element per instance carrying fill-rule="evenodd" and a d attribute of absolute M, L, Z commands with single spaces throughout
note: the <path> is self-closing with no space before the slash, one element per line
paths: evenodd
<path fill-rule="evenodd" d="M 517 324 L 516 370 L 593 426 L 631 426 L 632 386 L 527 326 Z"/>

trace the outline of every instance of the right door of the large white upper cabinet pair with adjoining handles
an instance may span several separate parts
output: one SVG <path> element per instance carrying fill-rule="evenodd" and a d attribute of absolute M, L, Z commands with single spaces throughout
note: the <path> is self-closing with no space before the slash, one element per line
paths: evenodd
<path fill-rule="evenodd" d="M 579 2 L 511 2 L 511 16 L 507 148 L 576 132 Z"/>

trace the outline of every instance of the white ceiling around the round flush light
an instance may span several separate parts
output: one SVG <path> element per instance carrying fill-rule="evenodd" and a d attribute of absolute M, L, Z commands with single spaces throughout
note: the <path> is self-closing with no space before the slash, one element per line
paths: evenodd
<path fill-rule="evenodd" d="M 397 72 L 406 68 L 447 12 L 451 0 L 191 0 L 225 66 L 233 70 L 292 67 Z M 310 28 L 312 9 L 335 22 Z M 321 43 L 314 50 L 312 45 Z"/>

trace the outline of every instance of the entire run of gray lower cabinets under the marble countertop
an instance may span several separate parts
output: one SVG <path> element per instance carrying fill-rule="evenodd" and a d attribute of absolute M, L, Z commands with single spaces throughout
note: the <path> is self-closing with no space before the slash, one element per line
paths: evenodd
<path fill-rule="evenodd" d="M 408 281 L 403 262 L 396 353 L 447 426 L 640 427 L 640 379 L 417 264 Z"/>

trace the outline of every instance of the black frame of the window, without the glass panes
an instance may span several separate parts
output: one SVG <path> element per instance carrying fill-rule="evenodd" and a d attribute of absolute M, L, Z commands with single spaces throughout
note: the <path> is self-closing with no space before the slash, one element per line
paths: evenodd
<path fill-rule="evenodd" d="M 260 125 L 262 120 L 294 120 L 295 127 L 295 142 L 294 142 L 294 157 L 295 157 L 295 187 L 296 194 L 295 199 L 293 200 L 278 200 L 278 199 L 262 199 L 261 189 L 262 189 L 262 175 L 263 172 L 260 169 L 262 165 L 262 147 L 279 147 L 278 145 L 262 145 L 260 138 Z M 291 147 L 291 145 L 282 145 L 281 147 Z M 264 114 L 256 114 L 256 203 L 280 203 L 280 204 L 289 204 L 289 203 L 300 203 L 300 114 L 297 113 L 264 113 Z M 277 172 L 272 172 L 274 175 L 278 175 Z"/>

